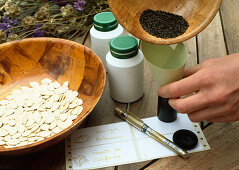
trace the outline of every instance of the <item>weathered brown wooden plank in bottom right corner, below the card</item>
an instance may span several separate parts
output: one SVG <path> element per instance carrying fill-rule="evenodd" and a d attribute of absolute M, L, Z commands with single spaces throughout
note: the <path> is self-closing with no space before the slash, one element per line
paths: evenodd
<path fill-rule="evenodd" d="M 204 130 L 211 150 L 161 159 L 147 169 L 239 169 L 239 122 L 213 124 Z"/>

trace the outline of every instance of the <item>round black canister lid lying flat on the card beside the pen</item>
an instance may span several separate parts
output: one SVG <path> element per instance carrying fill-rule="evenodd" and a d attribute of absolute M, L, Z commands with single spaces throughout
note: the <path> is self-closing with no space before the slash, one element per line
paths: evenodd
<path fill-rule="evenodd" d="M 183 149 L 191 150 L 197 146 L 198 138 L 192 131 L 182 129 L 173 134 L 173 142 Z"/>

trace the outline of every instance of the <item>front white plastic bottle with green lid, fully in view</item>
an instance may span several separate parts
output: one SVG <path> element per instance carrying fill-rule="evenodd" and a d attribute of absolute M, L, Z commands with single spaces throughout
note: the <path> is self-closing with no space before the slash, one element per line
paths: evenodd
<path fill-rule="evenodd" d="M 118 102 L 134 102 L 144 91 L 143 53 L 132 36 L 119 36 L 109 44 L 106 63 L 110 96 Z"/>

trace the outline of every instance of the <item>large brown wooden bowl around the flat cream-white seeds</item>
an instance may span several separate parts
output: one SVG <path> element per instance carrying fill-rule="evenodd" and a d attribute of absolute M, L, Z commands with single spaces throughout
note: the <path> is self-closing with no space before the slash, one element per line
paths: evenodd
<path fill-rule="evenodd" d="M 102 61 L 87 47 L 57 38 L 29 38 L 0 45 L 0 100 L 14 89 L 44 78 L 69 81 L 79 92 L 83 111 L 73 124 L 45 140 L 15 148 L 0 146 L 0 154 L 25 154 L 63 140 L 90 114 L 101 97 L 106 73 Z"/>

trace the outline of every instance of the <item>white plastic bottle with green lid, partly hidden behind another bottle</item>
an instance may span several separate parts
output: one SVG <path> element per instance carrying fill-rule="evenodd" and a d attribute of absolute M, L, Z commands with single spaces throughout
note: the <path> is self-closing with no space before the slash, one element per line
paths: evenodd
<path fill-rule="evenodd" d="M 91 49 L 101 58 L 106 67 L 105 56 L 109 51 L 108 42 L 122 35 L 124 29 L 111 12 L 95 15 L 93 22 L 94 26 L 90 29 Z"/>

